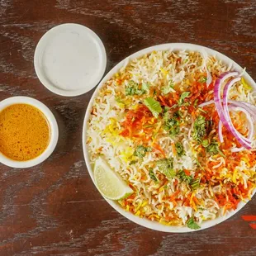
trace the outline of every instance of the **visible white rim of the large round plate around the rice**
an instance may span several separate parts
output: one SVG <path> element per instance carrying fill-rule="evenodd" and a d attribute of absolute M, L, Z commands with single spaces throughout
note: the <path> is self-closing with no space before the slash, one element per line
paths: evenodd
<path fill-rule="evenodd" d="M 177 43 L 177 44 L 165 44 L 165 45 L 156 45 L 152 46 L 149 48 L 146 48 L 144 50 L 140 50 L 136 52 L 133 55 L 130 55 L 128 58 L 122 60 L 119 64 L 117 64 L 107 75 L 105 78 L 102 79 L 102 82 L 99 84 L 97 87 L 96 91 L 93 93 L 91 101 L 88 104 L 88 108 L 85 114 L 85 118 L 83 121 L 83 154 L 84 154 L 84 159 L 88 167 L 88 172 L 92 178 L 93 183 L 95 184 L 94 178 L 93 178 L 93 172 L 92 172 L 92 166 L 90 164 L 90 159 L 89 159 L 89 154 L 88 154 L 88 148 L 86 145 L 86 140 L 87 140 L 87 135 L 86 135 L 86 130 L 88 126 L 88 119 L 91 113 L 91 108 L 92 108 L 92 103 L 97 97 L 97 93 L 100 88 L 102 88 L 102 85 L 107 82 L 108 79 L 112 77 L 116 72 L 118 72 L 121 67 L 126 65 L 130 59 L 135 59 L 137 57 L 140 57 L 142 55 L 148 54 L 152 52 L 153 50 L 194 50 L 194 51 L 205 51 L 208 55 L 215 55 L 217 59 L 221 59 L 225 64 L 232 64 L 233 68 L 239 72 L 241 72 L 243 69 L 239 66 L 239 64 L 236 64 L 235 61 L 232 59 L 226 57 L 225 55 L 220 54 L 216 50 L 211 50 L 210 48 L 201 46 L 201 45 L 192 45 L 192 44 L 183 44 L 183 43 Z M 248 73 L 244 73 L 244 78 L 250 83 L 250 84 L 255 84 L 253 78 L 249 76 Z M 254 190 L 255 193 L 255 190 Z M 192 232 L 195 230 L 191 230 L 187 227 L 179 227 L 179 226 L 168 226 L 168 225 L 162 225 L 159 222 L 156 221 L 150 221 L 147 219 L 140 218 L 138 216 L 133 215 L 129 211 L 125 211 L 124 209 L 119 206 L 116 201 L 111 201 L 104 197 L 105 200 L 119 213 L 121 213 L 122 216 L 125 216 L 127 219 L 132 220 L 133 222 L 143 225 L 149 229 L 152 230 L 159 230 L 159 231 L 164 231 L 164 232 L 178 232 L 178 233 L 183 233 L 183 232 Z M 221 216 L 219 218 L 216 218 L 215 220 L 206 220 L 201 223 L 201 229 L 204 230 L 206 228 L 209 228 L 213 225 L 217 225 L 220 222 L 229 219 L 231 216 L 233 216 L 236 212 L 238 212 L 242 207 L 245 206 L 246 203 L 240 202 L 237 209 L 235 211 L 230 211 L 226 214 L 226 216 Z"/>

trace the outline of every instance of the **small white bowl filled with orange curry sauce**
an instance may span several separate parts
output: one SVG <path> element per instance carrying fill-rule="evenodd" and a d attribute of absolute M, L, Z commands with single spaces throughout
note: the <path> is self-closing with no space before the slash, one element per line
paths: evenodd
<path fill-rule="evenodd" d="M 59 137 L 55 116 L 31 97 L 0 102 L 0 163 L 29 168 L 47 159 Z"/>

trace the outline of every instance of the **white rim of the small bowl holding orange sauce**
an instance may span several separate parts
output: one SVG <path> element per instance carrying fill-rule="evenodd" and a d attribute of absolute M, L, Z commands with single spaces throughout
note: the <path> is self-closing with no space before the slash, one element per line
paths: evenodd
<path fill-rule="evenodd" d="M 0 111 L 13 104 L 28 104 L 33 107 L 36 107 L 45 115 L 45 118 L 47 119 L 50 125 L 50 143 L 48 147 L 45 149 L 45 151 L 38 157 L 36 157 L 36 159 L 31 159 L 28 161 L 16 161 L 7 158 L 4 154 L 0 152 L 0 163 L 5 164 L 12 168 L 30 168 L 45 161 L 45 159 L 47 159 L 50 156 L 50 154 L 52 154 L 55 150 L 59 138 L 58 124 L 55 119 L 55 116 L 50 111 L 50 109 L 46 107 L 45 104 L 43 104 L 42 102 L 39 102 L 31 97 L 9 97 L 0 102 Z"/>

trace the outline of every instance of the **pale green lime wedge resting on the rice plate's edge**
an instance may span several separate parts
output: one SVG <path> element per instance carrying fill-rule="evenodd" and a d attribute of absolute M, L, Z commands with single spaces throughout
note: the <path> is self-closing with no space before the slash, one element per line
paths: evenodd
<path fill-rule="evenodd" d="M 129 197 L 133 190 L 113 171 L 104 159 L 99 157 L 94 165 L 94 179 L 97 189 L 104 197 L 121 200 Z"/>

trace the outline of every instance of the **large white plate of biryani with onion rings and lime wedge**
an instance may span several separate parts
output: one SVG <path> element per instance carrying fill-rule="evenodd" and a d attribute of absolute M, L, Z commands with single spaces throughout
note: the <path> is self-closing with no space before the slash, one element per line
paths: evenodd
<path fill-rule="evenodd" d="M 140 50 L 102 79 L 83 125 L 88 172 L 107 202 L 153 230 L 230 218 L 256 187 L 256 84 L 200 45 Z"/>

